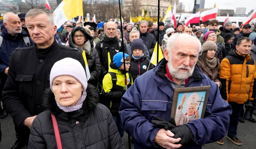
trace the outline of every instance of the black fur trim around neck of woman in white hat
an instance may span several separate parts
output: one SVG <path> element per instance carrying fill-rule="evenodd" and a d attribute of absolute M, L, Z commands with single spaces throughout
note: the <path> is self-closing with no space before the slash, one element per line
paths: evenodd
<path fill-rule="evenodd" d="M 86 99 L 84 100 L 83 106 L 80 110 L 84 110 L 88 116 L 90 112 L 97 107 L 99 96 L 97 94 L 96 88 L 91 84 L 88 84 L 86 94 Z M 54 93 L 50 88 L 45 90 L 42 100 L 42 106 L 44 109 L 50 110 L 53 115 L 59 115 L 61 112 L 64 112 L 57 106 Z"/>

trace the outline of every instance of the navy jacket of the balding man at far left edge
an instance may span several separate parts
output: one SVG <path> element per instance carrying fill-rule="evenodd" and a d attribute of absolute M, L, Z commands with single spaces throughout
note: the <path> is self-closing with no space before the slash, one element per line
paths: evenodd
<path fill-rule="evenodd" d="M 0 47 L 0 73 L 3 73 L 4 69 L 9 67 L 9 60 L 12 52 L 18 47 L 27 47 L 23 36 L 29 37 L 31 46 L 34 45 L 34 42 L 31 40 L 29 34 L 21 32 L 20 34 L 12 36 L 7 32 L 6 28 L 2 31 L 1 36 L 3 36 L 3 43 Z"/>

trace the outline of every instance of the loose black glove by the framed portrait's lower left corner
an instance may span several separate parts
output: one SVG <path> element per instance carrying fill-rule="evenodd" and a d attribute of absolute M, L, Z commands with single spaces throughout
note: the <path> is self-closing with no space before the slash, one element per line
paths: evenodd
<path fill-rule="evenodd" d="M 165 130 L 171 130 L 176 127 L 176 123 L 174 121 L 174 118 L 170 118 L 169 122 L 167 122 L 165 119 L 159 118 L 157 116 L 154 116 L 153 123 L 154 125 L 157 126 L 157 128 L 163 128 Z"/>

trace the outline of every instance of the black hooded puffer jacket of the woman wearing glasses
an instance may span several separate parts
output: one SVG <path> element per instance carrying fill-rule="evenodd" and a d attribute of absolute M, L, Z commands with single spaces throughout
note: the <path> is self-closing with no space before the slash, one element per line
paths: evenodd
<path fill-rule="evenodd" d="M 81 31 L 86 36 L 87 40 L 84 42 L 83 49 L 81 49 L 75 44 L 73 35 L 76 31 Z M 69 47 L 77 48 L 80 51 L 85 50 L 85 55 L 91 75 L 90 80 L 88 82 L 93 85 L 97 85 L 97 83 L 99 82 L 98 76 L 101 74 L 101 63 L 99 62 L 99 54 L 93 46 L 93 37 L 83 27 L 79 26 L 75 27 L 72 30 L 72 32 L 69 35 L 69 39 L 72 39 L 68 40 Z"/>

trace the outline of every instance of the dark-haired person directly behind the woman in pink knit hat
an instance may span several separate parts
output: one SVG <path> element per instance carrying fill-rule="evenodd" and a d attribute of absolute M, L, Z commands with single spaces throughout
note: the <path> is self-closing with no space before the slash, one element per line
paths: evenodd
<path fill-rule="evenodd" d="M 219 21 L 218 20 L 211 20 L 209 22 L 209 29 L 205 28 L 205 30 L 207 30 L 207 32 L 208 31 L 214 31 L 217 35 L 217 41 L 216 42 L 221 43 L 223 46 L 225 46 L 224 38 L 220 35 L 221 31 L 218 29 L 218 26 L 219 26 Z M 199 40 L 200 40 L 202 45 L 204 44 L 204 42 L 206 42 L 204 40 L 204 35 L 202 35 Z"/>

